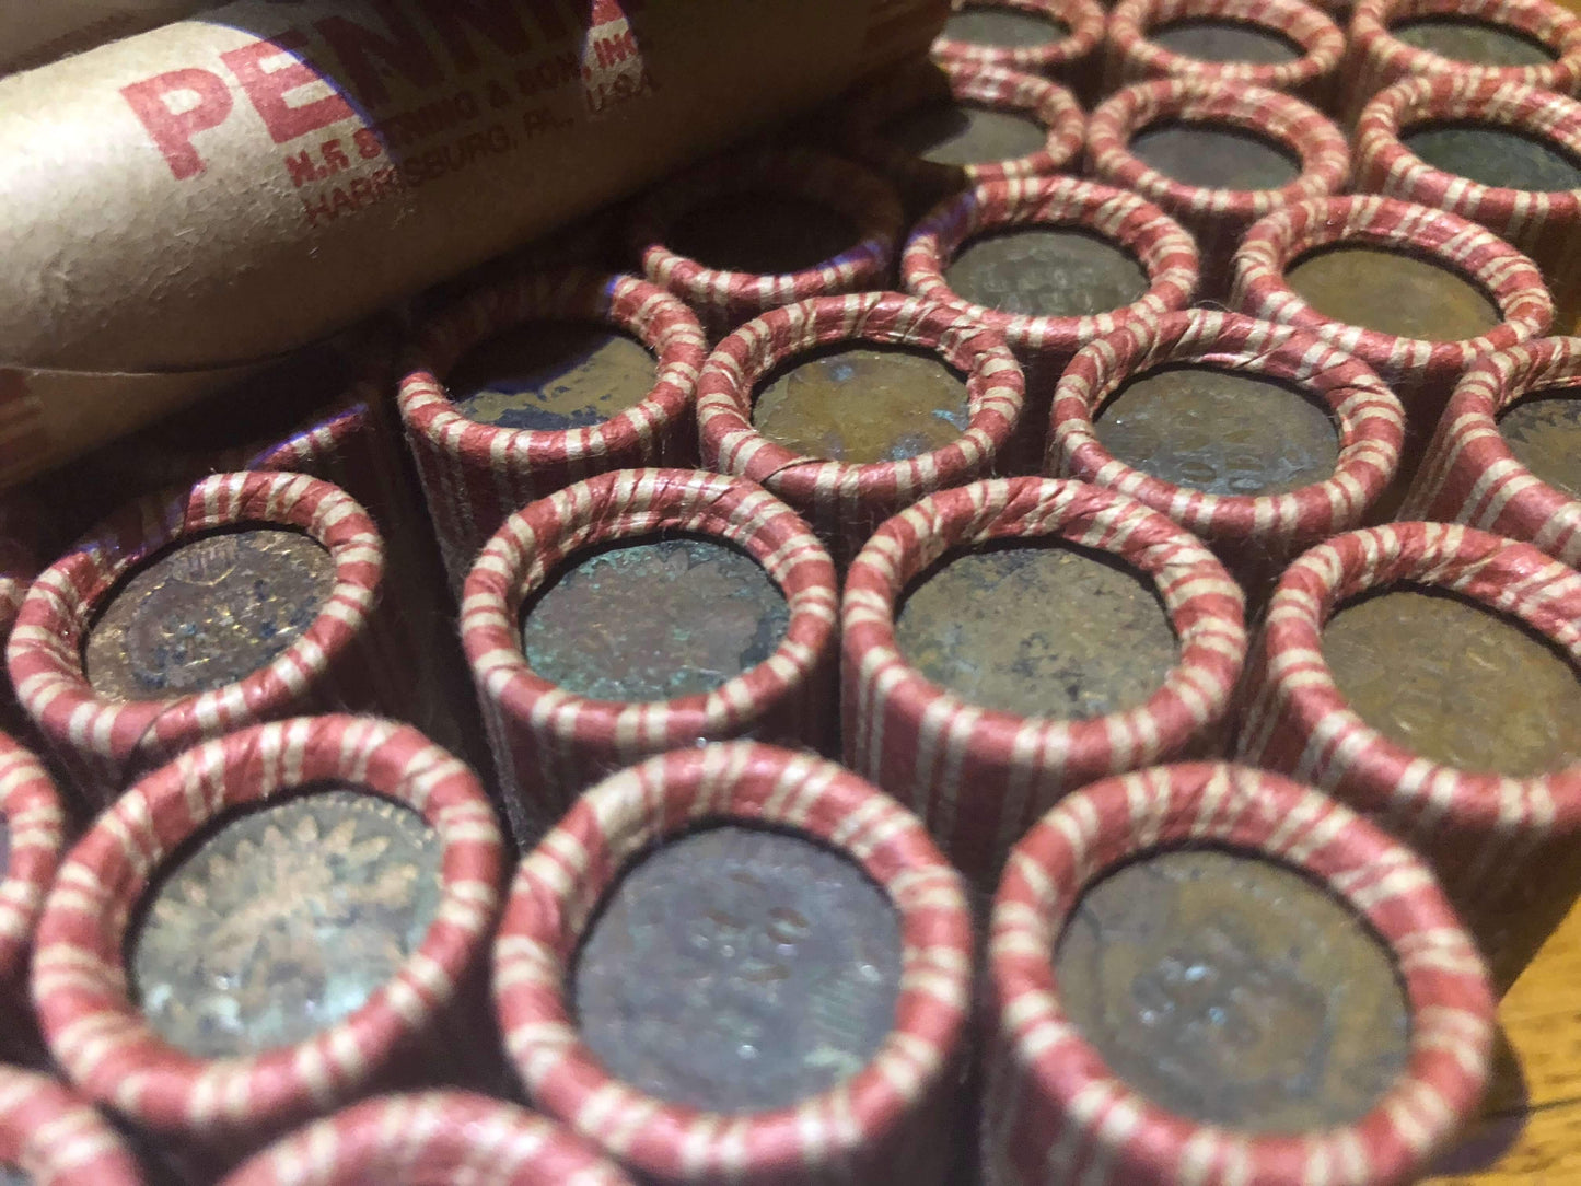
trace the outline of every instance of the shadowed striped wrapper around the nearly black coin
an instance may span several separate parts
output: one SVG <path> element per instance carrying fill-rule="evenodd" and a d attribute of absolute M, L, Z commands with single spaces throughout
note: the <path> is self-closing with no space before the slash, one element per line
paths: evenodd
<path fill-rule="evenodd" d="M 675 225 L 702 202 L 789 199 L 828 210 L 854 232 L 827 259 L 792 272 L 759 274 L 710 267 L 677 251 Z M 773 217 L 773 212 L 767 215 Z M 631 251 L 643 275 L 696 312 L 710 335 L 723 337 L 759 313 L 797 300 L 889 288 L 904 212 L 895 190 L 860 164 L 806 150 L 727 155 L 661 185 L 631 220 Z"/>

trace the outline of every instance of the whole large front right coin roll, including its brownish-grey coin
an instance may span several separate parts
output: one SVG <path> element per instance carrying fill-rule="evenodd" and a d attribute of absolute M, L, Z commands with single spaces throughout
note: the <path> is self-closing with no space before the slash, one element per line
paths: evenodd
<path fill-rule="evenodd" d="M 1214 846 L 1217 852 L 1202 846 Z M 1284 874 L 1298 887 L 1292 893 L 1312 895 L 1314 906 L 1325 906 L 1344 920 L 1320 930 L 1319 920 L 1292 928 L 1292 922 L 1306 919 L 1285 917 L 1282 946 L 1276 936 L 1258 941 L 1258 927 L 1277 925 L 1270 917 L 1281 920 L 1268 901 L 1257 903 L 1260 917 L 1246 917 L 1252 911 L 1244 900 L 1230 897 L 1232 887 L 1224 887 L 1221 909 L 1209 906 L 1213 912 L 1203 916 L 1198 903 L 1192 916 L 1187 895 L 1206 897 L 1213 887 L 1181 884 L 1170 901 L 1167 882 L 1159 884 L 1164 878 L 1157 873 L 1151 889 L 1164 900 L 1149 917 L 1167 916 L 1170 906 L 1179 916 L 1164 923 L 1170 927 L 1167 933 L 1154 938 L 1134 931 L 1107 946 L 1099 936 L 1097 942 L 1089 941 L 1096 949 L 1092 958 L 1067 957 L 1078 938 L 1073 931 L 1080 930 L 1075 908 L 1110 889 L 1105 881 L 1118 882 L 1149 865 L 1209 852 L 1216 870 L 1257 881 Z M 1126 862 L 1135 859 L 1143 863 L 1126 870 Z M 1247 887 L 1241 889 L 1244 893 Z M 1326 938 L 1342 927 L 1360 931 L 1356 939 L 1375 949 L 1368 955 L 1382 963 L 1377 971 L 1390 982 L 1388 988 L 1404 998 L 1393 1041 L 1406 1050 L 1393 1078 L 1383 1074 L 1390 1067 L 1377 1066 L 1375 1056 L 1369 1059 L 1390 1036 L 1358 1033 L 1361 1025 L 1347 1017 L 1364 991 L 1361 977 L 1349 966 L 1336 966 L 1338 960 L 1304 968 L 1281 960 L 1300 958 L 1290 955 L 1292 930 L 1309 928 Z M 1080 938 L 1086 936 L 1081 930 Z M 1200 950 L 1192 944 L 1198 936 Z M 1127 958 L 1132 957 L 1123 947 L 1127 941 L 1146 949 L 1149 939 L 1168 952 L 1164 961 L 1149 965 L 1140 950 Z M 1333 947 L 1339 947 L 1339 939 Z M 1146 1044 L 1149 1029 L 1138 1014 L 1145 1001 L 1160 999 L 1160 993 L 1165 999 L 1183 995 L 1183 988 L 1173 987 L 1178 977 L 1172 979 L 1168 960 L 1184 950 L 1197 954 L 1202 963 L 1194 961 L 1192 968 L 1206 965 L 1211 977 L 1200 996 L 1192 995 L 1179 1006 L 1195 1022 L 1197 1001 L 1206 998 L 1200 1007 L 1208 1012 L 1198 1022 L 1205 1036 L 1198 1045 L 1179 1052 L 1184 1067 L 1175 1071 L 1195 1071 L 1195 1090 L 1183 1093 L 1192 1096 L 1192 1107 L 1222 1107 L 1224 1096 L 1214 1093 L 1224 1090 L 1230 1096 L 1232 1088 L 1240 1088 L 1254 1099 L 1252 1109 L 1268 1109 L 1290 1093 L 1292 1078 L 1309 1075 L 1326 1075 L 1323 1086 L 1333 1090 L 1328 1067 L 1311 1071 L 1311 1058 L 1296 1063 L 1307 1074 L 1282 1075 L 1289 1063 L 1281 1063 L 1279 1071 L 1257 1080 L 1270 1066 L 1258 1061 L 1263 1052 L 1277 1048 L 1296 1061 L 1303 1041 L 1315 1047 L 1334 1042 L 1336 1034 L 1350 1039 L 1369 1072 L 1368 1083 L 1382 1080 L 1377 1086 L 1383 1091 L 1361 1115 L 1344 1123 L 1258 1132 L 1162 1104 L 1149 1094 L 1157 1093 L 1151 1082 L 1137 1082 L 1156 1078 L 1159 1072 L 1153 1067 L 1143 1064 L 1141 1074 L 1130 1078 L 1116 1072 L 1111 1059 L 1118 1061 L 1118 1050 L 1104 1047 L 1124 1042 L 1124 1056 L 1130 1059 L 1134 1047 Z M 1488 1077 L 1494 1034 L 1488 974 L 1432 874 L 1361 816 L 1315 791 L 1249 767 L 1164 765 L 1073 792 L 1012 852 L 994 898 L 988 957 L 994 1033 L 988 1053 L 983 1169 L 990 1181 L 1006 1186 L 1053 1186 L 1078 1178 L 1102 1186 L 1415 1181 L 1472 1118 Z M 1265 979 L 1255 980 L 1255 987 L 1243 982 L 1238 987 L 1244 995 L 1236 995 L 1236 974 L 1251 977 L 1258 969 Z M 1083 973 L 1099 982 L 1086 982 Z M 1347 995 L 1336 1001 L 1330 991 L 1325 999 L 1325 990 L 1338 988 L 1325 979 L 1336 976 L 1350 977 L 1344 984 Z M 1085 998 L 1105 990 L 1110 996 L 1097 1009 L 1086 1004 Z M 1257 1006 L 1251 1001 L 1271 1007 L 1285 1026 L 1266 1015 L 1254 1017 Z M 1110 1018 L 1105 1006 L 1132 1017 L 1132 1031 L 1115 1033 L 1118 1017 Z M 1083 1026 L 1080 1014 L 1097 1010 L 1105 1010 L 1100 1029 L 1094 1031 L 1091 1022 Z M 1148 1018 L 1154 1041 L 1176 1015 L 1172 1006 L 1162 1012 L 1165 1020 L 1157 1020 L 1157 1014 Z M 1304 1028 L 1312 1022 L 1322 1026 L 1320 1033 Z M 1186 1023 L 1183 1018 L 1181 1025 Z M 1235 1053 L 1228 1048 L 1232 1041 L 1241 1044 Z M 1216 1053 L 1222 1063 L 1208 1050 L 1219 1044 Z"/>

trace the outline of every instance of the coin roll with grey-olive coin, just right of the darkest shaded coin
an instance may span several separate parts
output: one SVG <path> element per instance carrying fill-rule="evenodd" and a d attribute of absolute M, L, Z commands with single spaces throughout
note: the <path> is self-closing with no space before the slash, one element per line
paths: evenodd
<path fill-rule="evenodd" d="M 1064 236 L 1072 253 L 1061 259 L 1061 240 L 1047 237 L 1040 248 L 1047 255 L 1017 258 L 1013 240 L 1023 237 L 1036 251 L 1037 232 Z M 1102 250 L 1096 259 L 1094 239 Z M 979 245 L 1006 258 L 964 275 L 963 258 L 971 269 Z M 1132 272 L 1129 289 L 1119 286 L 1116 264 Z M 1026 370 L 1026 410 L 996 470 L 1034 473 L 1048 436 L 1050 395 L 1066 364 L 1100 334 L 1186 308 L 1197 291 L 1197 248 L 1175 220 L 1132 193 L 1036 177 L 979 185 L 938 206 L 912 228 L 901 274 L 907 291 L 1004 334 Z M 998 297 L 996 305 L 974 299 L 985 296 Z M 1111 300 L 1123 304 L 1105 308 Z"/>

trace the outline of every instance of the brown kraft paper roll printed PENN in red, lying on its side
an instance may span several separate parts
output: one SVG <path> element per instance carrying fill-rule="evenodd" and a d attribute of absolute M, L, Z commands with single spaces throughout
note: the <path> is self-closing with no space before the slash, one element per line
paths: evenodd
<path fill-rule="evenodd" d="M 0 482 L 917 57 L 945 11 L 237 0 L 3 79 Z"/>

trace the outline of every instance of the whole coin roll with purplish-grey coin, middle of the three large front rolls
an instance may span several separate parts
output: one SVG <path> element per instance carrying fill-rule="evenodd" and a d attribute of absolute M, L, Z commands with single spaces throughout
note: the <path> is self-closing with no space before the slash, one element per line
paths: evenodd
<path fill-rule="evenodd" d="M 699 824 L 713 829 L 699 833 L 694 830 Z M 692 835 L 683 835 L 688 832 Z M 732 890 L 730 906 L 723 909 L 734 909 L 745 928 L 743 958 L 732 961 L 735 949 L 729 944 L 707 947 L 707 927 L 734 923 L 710 917 L 707 897 L 694 898 L 696 919 L 669 916 L 659 925 L 699 938 L 685 950 L 659 944 L 656 961 L 643 965 L 636 979 L 655 984 L 656 977 L 669 977 L 677 1001 L 694 991 L 708 993 L 708 1001 L 719 1003 L 721 1025 L 760 1010 L 759 1025 L 748 1033 L 762 1044 L 762 1061 L 789 1064 L 792 1072 L 775 1083 L 792 1102 L 770 1109 L 746 1102 L 762 1088 L 760 1077 L 732 1080 L 743 1085 L 743 1102 L 710 1110 L 677 1105 L 670 1102 L 674 1096 L 656 1097 L 612 1075 L 590 1047 L 587 1010 L 575 1006 L 572 1015 L 568 985 L 572 974 L 580 979 L 571 961 L 594 923 L 593 911 L 612 895 L 620 905 L 624 879 L 643 871 L 640 863 L 632 868 L 640 849 L 658 843 L 662 856 L 697 838 L 730 833 L 783 841 L 809 862 L 835 862 L 857 874 L 860 881 L 841 884 L 876 900 L 893 936 L 893 950 L 879 969 L 893 1004 L 873 1028 L 868 1028 L 873 1017 L 865 1014 L 868 1025 L 860 1031 L 871 1055 L 854 1066 L 808 1064 L 802 1045 L 813 1041 L 813 1026 L 776 1025 L 775 1017 L 792 1003 L 792 990 L 803 991 L 800 985 L 808 976 L 816 976 L 817 987 L 828 991 L 814 1012 L 827 1007 L 844 1014 L 846 993 L 862 985 L 866 988 L 860 999 L 882 1001 L 877 987 L 863 979 L 862 961 L 847 955 L 863 947 L 863 931 L 844 927 L 846 914 L 835 908 L 808 916 L 806 895 L 819 893 L 828 882 L 822 876 L 797 878 L 794 863 L 759 867 L 756 874 L 749 862 L 705 860 L 692 867 L 694 882 L 723 878 L 740 887 L 741 893 Z M 672 886 L 681 881 L 678 871 L 672 873 Z M 787 900 L 776 905 L 776 890 Z M 594 925 L 594 936 L 601 927 Z M 764 946 L 751 938 L 765 927 L 789 942 Z M 828 947 L 819 944 L 817 935 L 828 938 Z M 656 938 L 647 935 L 648 941 Z M 805 961 L 816 961 L 814 968 L 822 971 L 809 971 L 787 952 L 808 946 L 817 950 L 803 952 Z M 495 1006 L 533 1101 L 624 1161 L 645 1181 L 936 1183 L 944 1180 L 949 1161 L 941 1143 L 949 1139 L 944 1118 L 961 1055 L 971 952 L 960 876 L 914 816 L 830 762 L 735 742 L 662 754 L 577 802 L 517 871 L 495 944 Z M 702 966 L 718 963 L 718 976 L 699 987 L 688 976 L 692 958 L 702 960 Z M 768 966 L 759 968 L 756 958 Z M 784 966 L 787 960 L 790 966 Z M 779 971 L 790 974 L 790 984 L 773 979 Z M 773 984 L 783 984 L 786 991 L 776 995 Z M 580 987 L 574 995 L 582 999 Z M 661 1039 L 672 1026 L 672 1014 L 632 1022 L 647 1026 L 634 1039 L 640 1044 Z M 817 1033 L 827 1033 L 827 1020 L 817 1023 Z M 697 1037 L 704 1045 L 707 1033 Z M 702 1053 L 724 1059 L 730 1047 L 708 1041 Z M 844 1029 L 830 1039 L 830 1047 L 854 1055 L 854 1041 Z M 705 1071 L 707 1066 L 700 1067 L 699 1075 L 705 1077 Z M 765 1066 L 762 1075 L 768 1072 Z M 827 1086 L 802 1094 L 797 1088 L 808 1082 L 803 1074 Z"/>

